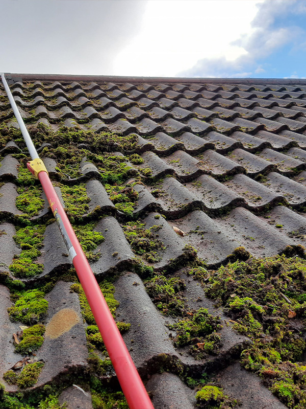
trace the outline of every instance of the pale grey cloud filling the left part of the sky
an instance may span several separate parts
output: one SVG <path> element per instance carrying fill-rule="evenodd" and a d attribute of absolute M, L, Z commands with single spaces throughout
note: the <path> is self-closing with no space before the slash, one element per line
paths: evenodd
<path fill-rule="evenodd" d="M 143 0 L 2 0 L 0 70 L 110 75 L 145 6 Z"/>

